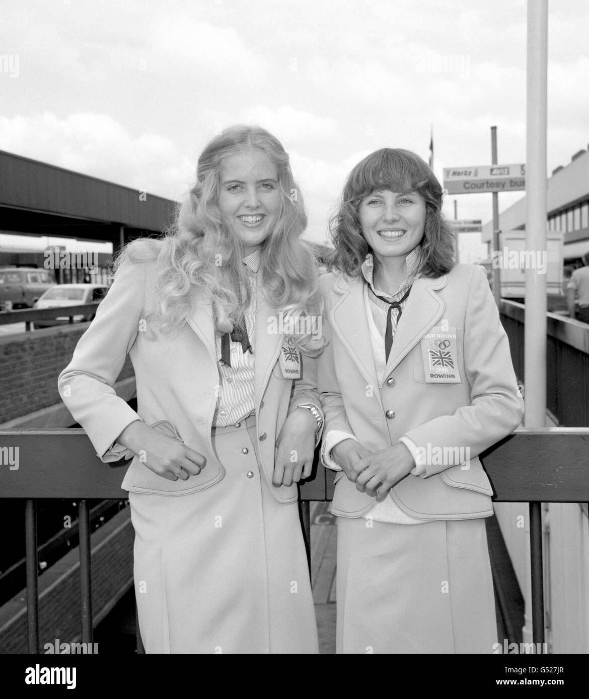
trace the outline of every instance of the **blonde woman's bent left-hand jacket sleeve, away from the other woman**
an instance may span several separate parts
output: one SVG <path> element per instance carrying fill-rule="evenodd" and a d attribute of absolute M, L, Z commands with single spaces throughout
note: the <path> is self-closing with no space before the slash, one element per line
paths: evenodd
<path fill-rule="evenodd" d="M 127 425 L 141 419 L 113 386 L 139 332 L 145 285 L 146 264 L 127 262 L 118 269 L 57 382 L 62 401 L 105 463 L 121 458 L 111 447 Z"/>

